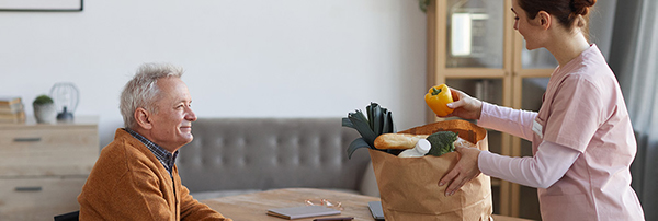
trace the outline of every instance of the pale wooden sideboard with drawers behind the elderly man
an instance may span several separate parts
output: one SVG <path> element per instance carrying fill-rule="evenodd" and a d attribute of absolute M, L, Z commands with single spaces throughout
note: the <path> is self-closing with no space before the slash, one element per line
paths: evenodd
<path fill-rule="evenodd" d="M 79 209 L 100 152 L 98 121 L 0 124 L 0 220 L 52 220 Z"/>

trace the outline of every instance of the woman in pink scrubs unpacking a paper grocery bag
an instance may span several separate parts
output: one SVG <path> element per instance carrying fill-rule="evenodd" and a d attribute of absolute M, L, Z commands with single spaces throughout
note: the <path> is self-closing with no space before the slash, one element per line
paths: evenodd
<path fill-rule="evenodd" d="M 546 48 L 559 67 L 538 113 L 500 107 L 452 90 L 449 116 L 532 141 L 533 156 L 457 147 L 462 158 L 439 182 L 450 196 L 484 173 L 536 187 L 543 220 L 644 220 L 631 188 L 636 142 L 614 73 L 583 34 L 595 0 L 513 0 L 514 30 L 527 49 Z"/>

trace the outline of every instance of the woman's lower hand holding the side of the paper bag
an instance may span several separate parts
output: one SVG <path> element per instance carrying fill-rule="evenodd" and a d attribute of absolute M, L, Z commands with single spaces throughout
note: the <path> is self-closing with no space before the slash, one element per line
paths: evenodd
<path fill-rule="evenodd" d="M 452 171 L 439 181 L 439 186 L 450 184 L 447 188 L 445 188 L 445 196 L 452 196 L 462 188 L 464 184 L 480 174 L 480 170 L 477 167 L 477 158 L 480 153 L 479 149 L 455 146 L 455 150 L 460 152 L 460 161 L 457 161 L 457 164 Z"/>

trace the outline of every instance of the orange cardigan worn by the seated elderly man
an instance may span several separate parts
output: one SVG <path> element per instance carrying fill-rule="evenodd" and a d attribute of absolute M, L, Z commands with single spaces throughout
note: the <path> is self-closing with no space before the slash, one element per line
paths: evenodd
<path fill-rule="evenodd" d="M 117 129 L 78 196 L 80 220 L 230 221 L 193 199 L 172 172 L 173 182 L 144 143 Z"/>

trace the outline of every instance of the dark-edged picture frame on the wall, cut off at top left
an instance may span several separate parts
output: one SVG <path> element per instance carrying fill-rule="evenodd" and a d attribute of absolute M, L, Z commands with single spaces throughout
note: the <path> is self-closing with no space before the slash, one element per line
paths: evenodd
<path fill-rule="evenodd" d="M 0 11 L 82 11 L 83 0 L 0 0 Z"/>

